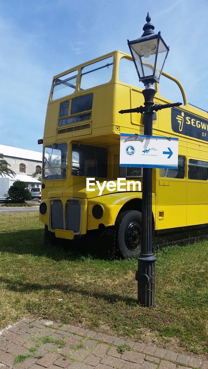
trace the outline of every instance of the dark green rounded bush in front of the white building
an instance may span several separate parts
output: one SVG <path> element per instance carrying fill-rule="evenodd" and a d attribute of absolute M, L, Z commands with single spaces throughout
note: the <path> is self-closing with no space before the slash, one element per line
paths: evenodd
<path fill-rule="evenodd" d="M 12 203 L 24 203 L 26 200 L 31 200 L 31 193 L 26 189 L 27 184 L 23 181 L 16 180 L 8 190 L 7 200 Z"/>

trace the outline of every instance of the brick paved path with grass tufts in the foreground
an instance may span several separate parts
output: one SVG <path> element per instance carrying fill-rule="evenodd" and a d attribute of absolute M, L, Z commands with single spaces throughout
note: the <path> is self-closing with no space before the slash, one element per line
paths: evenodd
<path fill-rule="evenodd" d="M 208 361 L 47 320 L 0 332 L 0 369 L 208 369 Z"/>

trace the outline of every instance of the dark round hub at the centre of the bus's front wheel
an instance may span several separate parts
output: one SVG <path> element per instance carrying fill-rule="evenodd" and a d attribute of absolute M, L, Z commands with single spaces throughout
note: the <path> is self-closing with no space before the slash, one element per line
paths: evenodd
<path fill-rule="evenodd" d="M 141 225 L 137 221 L 131 221 L 125 230 L 125 244 L 131 251 L 139 248 L 141 244 Z"/>

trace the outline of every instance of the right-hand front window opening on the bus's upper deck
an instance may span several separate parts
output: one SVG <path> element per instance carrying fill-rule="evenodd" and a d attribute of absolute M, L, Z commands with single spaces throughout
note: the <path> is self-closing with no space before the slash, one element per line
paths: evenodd
<path fill-rule="evenodd" d="M 86 65 L 81 70 L 80 90 L 87 90 L 91 87 L 103 85 L 110 82 L 113 72 L 113 56 Z"/>

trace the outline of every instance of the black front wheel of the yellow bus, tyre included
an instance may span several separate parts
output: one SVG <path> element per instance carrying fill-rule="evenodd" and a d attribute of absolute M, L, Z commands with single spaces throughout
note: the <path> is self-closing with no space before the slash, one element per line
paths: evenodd
<path fill-rule="evenodd" d="M 116 240 L 124 258 L 138 255 L 141 250 L 141 213 L 127 210 L 117 217 Z"/>

